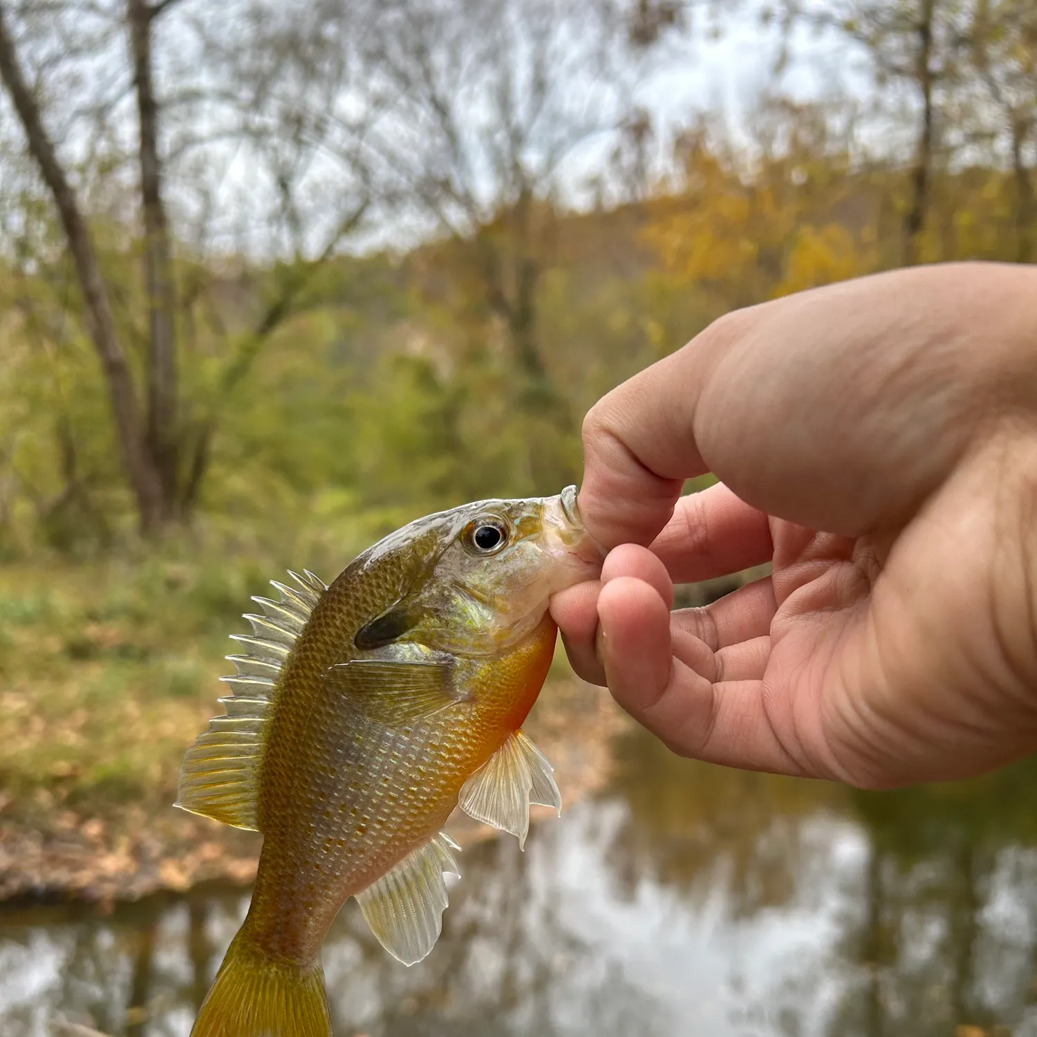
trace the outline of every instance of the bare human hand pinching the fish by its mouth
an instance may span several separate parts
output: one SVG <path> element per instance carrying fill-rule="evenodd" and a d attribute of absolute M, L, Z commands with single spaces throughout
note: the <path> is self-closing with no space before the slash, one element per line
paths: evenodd
<path fill-rule="evenodd" d="M 1037 749 L 1037 269 L 731 313 L 595 404 L 584 453 L 611 550 L 552 612 L 577 672 L 674 752 L 887 788 Z M 671 613 L 674 582 L 763 562 Z"/>

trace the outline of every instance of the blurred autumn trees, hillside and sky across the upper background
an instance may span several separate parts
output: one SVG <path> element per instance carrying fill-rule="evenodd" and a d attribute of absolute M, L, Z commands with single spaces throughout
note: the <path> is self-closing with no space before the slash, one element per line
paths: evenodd
<path fill-rule="evenodd" d="M 735 18 L 868 88 L 664 135 Z M 0 0 L 0 80 L 8 557 L 556 492 L 728 309 L 1037 253 L 1033 0 Z"/>

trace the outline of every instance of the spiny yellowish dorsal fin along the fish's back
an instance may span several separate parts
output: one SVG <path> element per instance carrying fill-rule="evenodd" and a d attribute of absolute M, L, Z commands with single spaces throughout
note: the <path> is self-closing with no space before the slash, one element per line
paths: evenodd
<path fill-rule="evenodd" d="M 231 635 L 244 652 L 228 655 L 237 671 L 221 677 L 232 694 L 220 699 L 226 712 L 188 750 L 175 806 L 239 829 L 258 829 L 259 769 L 278 693 L 278 676 L 313 607 L 328 589 L 308 570 L 288 573 L 299 587 L 272 580 L 279 600 L 253 597 L 261 616 L 246 615 L 252 637 Z"/>

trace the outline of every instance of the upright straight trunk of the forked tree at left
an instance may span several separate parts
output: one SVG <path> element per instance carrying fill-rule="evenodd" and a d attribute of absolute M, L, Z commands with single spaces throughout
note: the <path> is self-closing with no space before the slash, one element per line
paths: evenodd
<path fill-rule="evenodd" d="M 169 227 L 162 201 L 159 105 L 151 76 L 151 22 L 145 0 L 128 0 L 134 88 L 140 122 L 140 193 L 144 214 L 144 281 L 148 308 L 147 440 L 162 480 L 164 503 L 178 504 L 175 289 Z M 167 513 L 163 517 L 171 518 Z"/>

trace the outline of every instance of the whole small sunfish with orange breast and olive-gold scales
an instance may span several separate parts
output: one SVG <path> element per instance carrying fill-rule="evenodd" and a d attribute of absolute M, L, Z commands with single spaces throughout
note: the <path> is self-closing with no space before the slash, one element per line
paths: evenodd
<path fill-rule="evenodd" d="M 444 876 L 460 877 L 454 809 L 523 848 L 530 804 L 560 814 L 523 724 L 555 651 L 549 599 L 601 561 L 567 486 L 426 515 L 330 585 L 307 569 L 253 598 L 175 804 L 263 840 L 192 1037 L 330 1037 L 320 947 L 349 897 L 414 964 L 439 940 Z"/>

